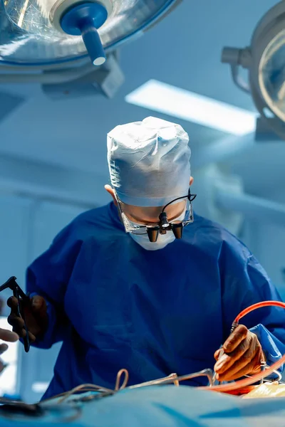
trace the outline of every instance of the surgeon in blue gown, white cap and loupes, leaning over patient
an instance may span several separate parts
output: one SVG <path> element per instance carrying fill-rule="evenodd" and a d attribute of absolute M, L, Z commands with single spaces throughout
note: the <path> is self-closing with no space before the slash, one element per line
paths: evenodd
<path fill-rule="evenodd" d="M 110 204 L 75 218 L 28 267 L 30 339 L 63 342 L 45 398 L 83 383 L 113 389 L 122 368 L 129 384 L 205 368 L 231 381 L 285 353 L 278 307 L 252 312 L 229 336 L 244 308 L 280 297 L 243 243 L 192 213 L 190 154 L 180 125 L 147 117 L 115 127 Z M 9 306 L 24 337 L 14 297 Z"/>

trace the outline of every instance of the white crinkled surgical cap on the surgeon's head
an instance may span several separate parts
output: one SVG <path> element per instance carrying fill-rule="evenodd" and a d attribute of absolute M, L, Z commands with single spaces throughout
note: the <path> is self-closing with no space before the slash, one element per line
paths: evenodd
<path fill-rule="evenodd" d="M 119 199 L 133 206 L 165 206 L 188 194 L 189 137 L 180 125 L 155 117 L 108 133 L 110 180 Z"/>

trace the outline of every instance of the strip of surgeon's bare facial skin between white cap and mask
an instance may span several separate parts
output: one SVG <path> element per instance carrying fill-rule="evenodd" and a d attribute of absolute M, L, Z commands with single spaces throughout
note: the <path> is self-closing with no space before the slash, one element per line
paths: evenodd
<path fill-rule="evenodd" d="M 182 211 L 185 209 L 186 201 L 182 200 L 176 204 L 170 204 L 165 209 L 168 220 L 177 218 L 182 214 Z M 159 216 L 162 212 L 164 206 L 158 207 L 140 207 L 140 206 L 131 206 L 128 204 L 123 204 L 124 213 L 133 221 L 139 221 L 142 223 L 151 223 L 157 222 L 159 220 Z"/>

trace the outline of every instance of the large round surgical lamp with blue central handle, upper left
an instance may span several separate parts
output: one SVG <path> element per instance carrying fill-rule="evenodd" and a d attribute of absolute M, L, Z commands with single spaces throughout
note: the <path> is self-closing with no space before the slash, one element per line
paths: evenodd
<path fill-rule="evenodd" d="M 38 71 L 45 71 L 43 83 L 57 83 L 55 71 L 63 72 L 60 81 L 66 82 L 71 69 L 81 78 L 92 72 L 90 58 L 102 65 L 107 54 L 144 33 L 180 1 L 0 0 L 0 82 L 11 82 L 15 72 L 18 83 L 33 76 L 39 82 Z"/>

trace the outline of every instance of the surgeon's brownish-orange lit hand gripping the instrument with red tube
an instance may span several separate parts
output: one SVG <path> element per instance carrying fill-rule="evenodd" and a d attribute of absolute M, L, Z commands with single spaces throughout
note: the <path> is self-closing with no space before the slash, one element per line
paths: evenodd
<path fill-rule="evenodd" d="M 224 354 L 219 359 L 222 350 Z M 214 358 L 217 360 L 214 371 L 220 382 L 257 374 L 261 370 L 261 362 L 265 361 L 257 335 L 244 325 L 239 325 L 229 335 L 222 349 L 215 352 Z"/>

